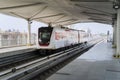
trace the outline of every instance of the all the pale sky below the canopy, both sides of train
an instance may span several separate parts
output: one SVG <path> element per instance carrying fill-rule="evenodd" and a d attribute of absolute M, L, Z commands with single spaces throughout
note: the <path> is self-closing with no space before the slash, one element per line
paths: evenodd
<path fill-rule="evenodd" d="M 8 15 L 0 14 L 0 29 L 1 30 L 8 30 L 8 29 L 15 29 L 19 30 L 20 32 L 27 32 L 27 21 L 21 18 L 16 18 Z M 31 32 L 36 33 L 37 29 L 41 26 L 47 26 L 44 23 L 33 21 L 31 24 Z M 91 30 L 93 34 L 104 33 L 106 34 L 107 31 L 112 33 L 111 25 L 101 24 L 101 23 L 78 23 L 71 26 L 74 29 L 79 30 Z"/>

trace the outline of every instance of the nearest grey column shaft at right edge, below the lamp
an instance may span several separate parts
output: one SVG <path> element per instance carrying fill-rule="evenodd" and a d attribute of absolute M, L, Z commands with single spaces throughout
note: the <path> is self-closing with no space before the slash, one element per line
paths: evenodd
<path fill-rule="evenodd" d="M 117 10 L 117 51 L 116 56 L 120 56 L 120 9 Z"/>

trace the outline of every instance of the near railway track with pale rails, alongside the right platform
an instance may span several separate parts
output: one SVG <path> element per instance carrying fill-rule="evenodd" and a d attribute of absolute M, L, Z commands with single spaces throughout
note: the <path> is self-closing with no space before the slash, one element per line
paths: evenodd
<path fill-rule="evenodd" d="M 65 61 L 73 55 L 89 49 L 92 46 L 93 45 L 84 45 L 83 47 L 83 45 L 79 45 L 53 55 L 33 59 L 30 62 L 16 65 L 6 70 L 2 70 L 0 71 L 0 80 L 34 80 L 33 78 L 36 75 L 39 75 L 47 69 Z"/>

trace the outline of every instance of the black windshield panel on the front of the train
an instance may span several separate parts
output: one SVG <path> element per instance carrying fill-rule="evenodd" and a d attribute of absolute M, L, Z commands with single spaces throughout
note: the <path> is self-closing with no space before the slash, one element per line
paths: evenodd
<path fill-rule="evenodd" d="M 49 45 L 51 34 L 52 34 L 52 28 L 45 27 L 39 29 L 39 44 L 40 45 Z"/>

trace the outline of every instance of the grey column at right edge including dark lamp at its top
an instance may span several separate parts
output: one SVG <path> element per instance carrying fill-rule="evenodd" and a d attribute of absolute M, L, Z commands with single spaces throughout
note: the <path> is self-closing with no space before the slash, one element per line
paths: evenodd
<path fill-rule="evenodd" d="M 117 11 L 117 50 L 116 53 L 114 55 L 114 57 L 116 58 L 120 58 L 120 3 L 117 1 L 113 4 L 113 8 Z"/>

